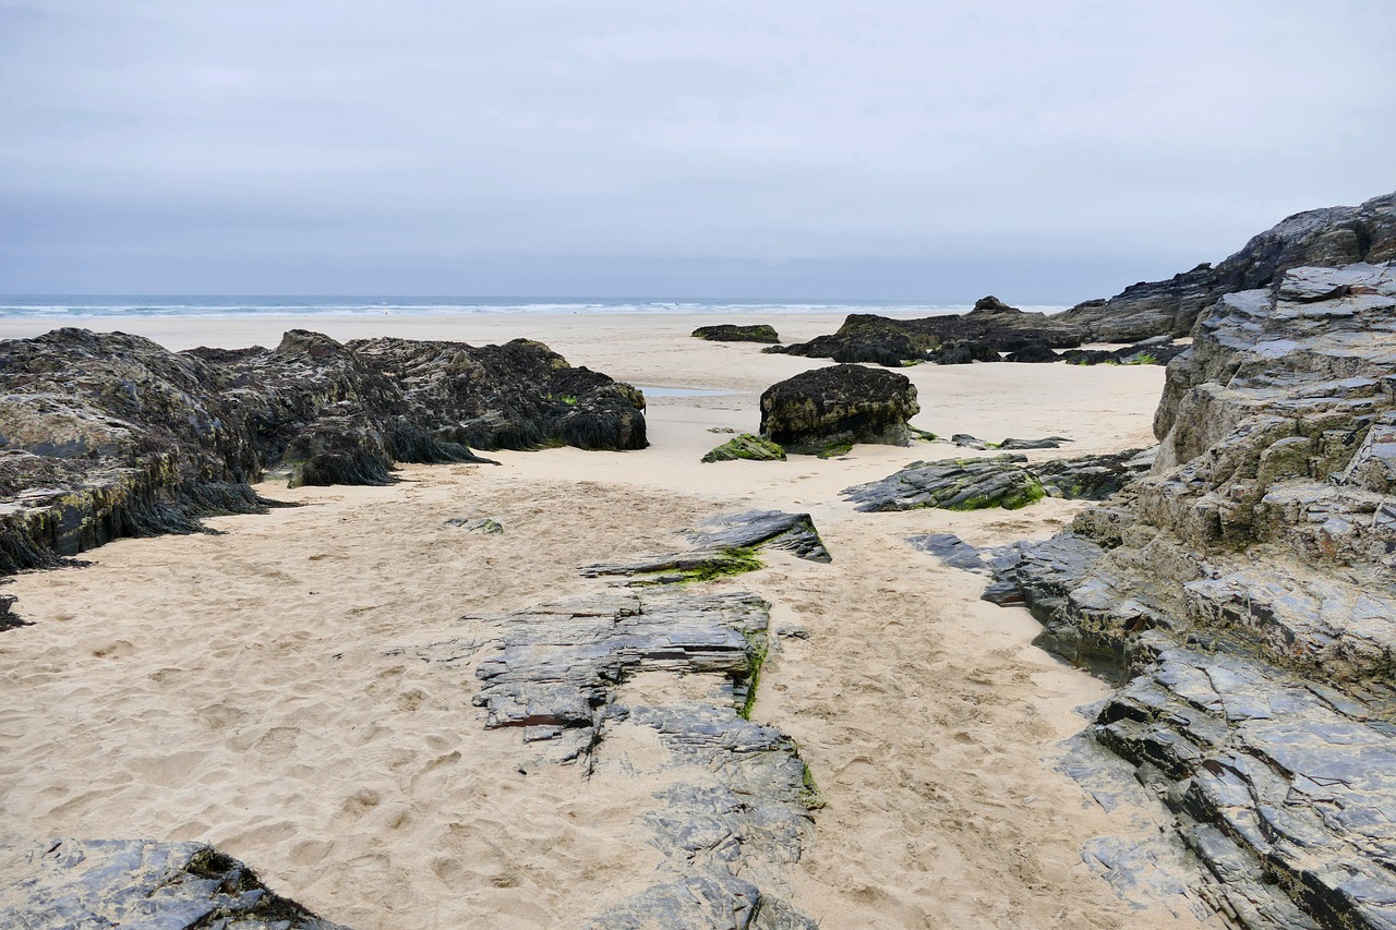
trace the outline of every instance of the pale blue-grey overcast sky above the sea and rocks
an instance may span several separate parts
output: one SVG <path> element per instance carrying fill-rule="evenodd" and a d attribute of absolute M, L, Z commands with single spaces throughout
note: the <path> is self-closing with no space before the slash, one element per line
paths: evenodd
<path fill-rule="evenodd" d="M 0 0 L 0 293 L 1108 296 L 1396 189 L 1390 0 Z"/>

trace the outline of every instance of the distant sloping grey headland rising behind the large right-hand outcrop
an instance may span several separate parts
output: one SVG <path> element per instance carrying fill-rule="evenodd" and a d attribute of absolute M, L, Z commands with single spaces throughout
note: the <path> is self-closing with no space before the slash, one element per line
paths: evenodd
<path fill-rule="evenodd" d="M 1342 267 L 1396 258 L 1396 193 L 1360 207 L 1294 214 L 1251 239 L 1216 268 L 1202 264 L 1168 281 L 1141 281 L 1110 300 L 1087 300 L 1058 318 L 1082 327 L 1094 342 L 1136 342 L 1187 335 L 1198 314 L 1219 297 L 1268 288 L 1290 268 Z"/>

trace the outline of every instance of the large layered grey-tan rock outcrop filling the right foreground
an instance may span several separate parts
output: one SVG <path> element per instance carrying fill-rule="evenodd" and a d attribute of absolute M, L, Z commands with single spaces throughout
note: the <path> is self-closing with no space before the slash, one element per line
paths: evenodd
<path fill-rule="evenodd" d="M 1237 923 L 1389 930 L 1396 267 L 1287 271 L 1194 339 L 1152 475 L 1043 543 L 923 546 L 1128 683 L 1093 733 L 1177 814 Z"/>

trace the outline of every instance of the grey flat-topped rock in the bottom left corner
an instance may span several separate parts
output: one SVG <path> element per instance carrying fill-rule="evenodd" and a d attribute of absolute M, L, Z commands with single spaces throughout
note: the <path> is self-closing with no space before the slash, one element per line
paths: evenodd
<path fill-rule="evenodd" d="M 46 839 L 0 846 L 8 927 L 345 930 L 202 843 Z"/>

